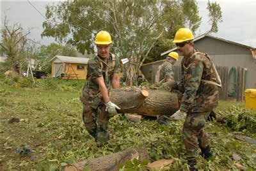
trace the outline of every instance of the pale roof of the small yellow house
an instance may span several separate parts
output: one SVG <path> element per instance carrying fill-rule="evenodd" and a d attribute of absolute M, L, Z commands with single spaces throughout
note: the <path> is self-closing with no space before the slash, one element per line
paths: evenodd
<path fill-rule="evenodd" d="M 85 57 L 71 57 L 71 56 L 54 56 L 52 57 L 51 62 L 58 62 L 58 63 L 78 63 L 78 64 L 87 64 L 89 58 Z"/>

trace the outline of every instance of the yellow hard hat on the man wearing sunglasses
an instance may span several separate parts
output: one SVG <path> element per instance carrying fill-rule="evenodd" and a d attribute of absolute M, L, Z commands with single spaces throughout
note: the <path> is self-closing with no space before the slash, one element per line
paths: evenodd
<path fill-rule="evenodd" d="M 193 39 L 194 39 L 194 35 L 190 29 L 181 28 L 176 32 L 174 40 L 172 42 L 181 43 L 181 42 L 193 40 Z"/>

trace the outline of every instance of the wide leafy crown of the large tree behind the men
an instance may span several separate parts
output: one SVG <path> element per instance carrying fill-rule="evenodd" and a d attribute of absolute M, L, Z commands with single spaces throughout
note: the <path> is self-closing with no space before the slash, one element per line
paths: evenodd
<path fill-rule="evenodd" d="M 194 1 L 193 1 L 194 2 Z M 111 33 L 113 51 L 121 58 L 135 58 L 140 68 L 159 38 L 173 38 L 179 27 L 189 21 L 197 28 L 200 17 L 184 19 L 180 1 L 65 1 L 47 6 L 42 36 L 69 42 L 79 52 L 94 52 L 93 38 L 100 30 Z M 191 10 L 198 13 L 197 8 Z M 196 16 L 193 15 L 193 16 Z M 193 17 L 191 16 L 191 17 Z M 170 36 L 172 35 L 172 36 Z"/>

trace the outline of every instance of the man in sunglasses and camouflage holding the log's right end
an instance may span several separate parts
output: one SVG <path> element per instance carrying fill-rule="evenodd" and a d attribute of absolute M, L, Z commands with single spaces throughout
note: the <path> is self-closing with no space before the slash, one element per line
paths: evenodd
<path fill-rule="evenodd" d="M 179 89 L 184 94 L 180 109 L 173 117 L 187 114 L 182 139 L 189 169 L 197 170 L 195 165 L 199 154 L 198 147 L 204 158 L 212 156 L 204 125 L 212 109 L 218 105 L 218 87 L 221 87 L 221 81 L 211 57 L 193 47 L 193 38 L 189 29 L 182 28 L 177 31 L 173 40 L 180 54 L 184 56 L 181 62 L 182 81 L 179 84 Z"/>

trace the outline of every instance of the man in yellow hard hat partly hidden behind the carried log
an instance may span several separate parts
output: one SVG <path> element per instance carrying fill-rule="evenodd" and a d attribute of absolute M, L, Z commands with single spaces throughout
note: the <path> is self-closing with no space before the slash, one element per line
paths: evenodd
<path fill-rule="evenodd" d="M 157 68 L 155 84 L 164 85 L 174 80 L 173 64 L 175 64 L 176 61 L 178 60 L 179 60 L 179 54 L 177 52 L 170 52 L 168 54 L 168 56 L 166 57 L 166 61 L 164 61 L 164 63 L 158 66 Z M 159 124 L 170 125 L 167 120 L 168 120 L 168 116 L 166 115 L 157 116 L 157 122 Z"/>

